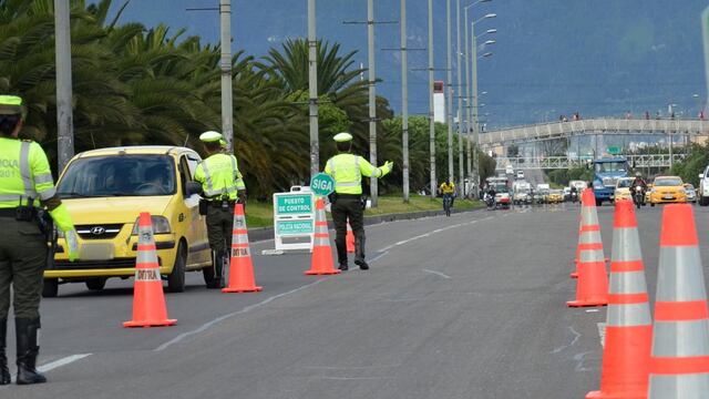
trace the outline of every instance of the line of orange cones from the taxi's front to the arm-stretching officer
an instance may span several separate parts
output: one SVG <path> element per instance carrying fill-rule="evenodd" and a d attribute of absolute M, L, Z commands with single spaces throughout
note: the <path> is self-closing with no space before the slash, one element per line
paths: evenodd
<path fill-rule="evenodd" d="M 348 250 L 354 252 L 354 236 L 348 224 Z M 328 223 L 325 217 L 325 201 L 318 200 L 316 205 L 315 243 L 310 269 L 307 275 L 333 275 L 340 270 L 333 267 L 332 249 Z M 229 262 L 229 282 L 223 293 L 257 293 L 263 288 L 256 285 L 254 264 L 248 243 L 244 205 L 234 207 L 234 228 Z M 160 327 L 173 326 L 177 323 L 167 317 L 163 282 L 160 274 L 155 239 L 151 215 L 141 213 L 138 218 L 138 245 L 135 262 L 135 282 L 133 287 L 133 319 L 123 323 L 124 327 Z"/>

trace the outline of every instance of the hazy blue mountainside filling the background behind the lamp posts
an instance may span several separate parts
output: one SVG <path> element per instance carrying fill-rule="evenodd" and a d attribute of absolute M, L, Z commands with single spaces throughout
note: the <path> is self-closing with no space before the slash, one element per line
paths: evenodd
<path fill-rule="evenodd" d="M 451 0 L 452 43 L 455 51 L 455 4 Z M 463 1 L 462 6 L 472 3 Z M 287 38 L 304 37 L 306 0 L 233 0 L 234 50 L 263 57 Z M 121 6 L 117 1 L 114 8 Z M 206 42 L 219 34 L 217 0 L 133 0 L 121 21 L 146 27 L 164 22 L 186 28 Z M 434 0 L 434 58 L 436 80 L 445 79 L 445 6 Z M 497 29 L 495 44 L 480 51 L 493 57 L 479 62 L 481 120 L 487 129 L 558 120 L 578 112 L 582 117 L 625 115 L 638 117 L 649 111 L 668 112 L 676 104 L 679 115 L 699 112 L 707 100 L 700 13 L 709 6 L 701 0 L 493 0 L 470 8 L 471 19 L 485 13 L 496 18 L 480 21 L 476 33 Z M 401 109 L 399 0 L 376 0 L 378 94 Z M 408 0 L 408 39 L 412 70 L 428 68 L 428 2 Z M 318 37 L 340 42 L 345 51 L 358 51 L 356 60 L 367 65 L 367 0 L 319 0 Z M 462 22 L 461 22 L 462 23 Z M 453 84 L 458 65 L 453 57 Z M 409 75 L 410 112 L 428 114 L 428 72 Z M 464 79 L 463 79 L 464 82 Z M 696 95 L 698 94 L 698 95 Z M 456 94 L 458 95 L 458 94 Z M 489 115 L 484 115 L 489 114 Z"/>

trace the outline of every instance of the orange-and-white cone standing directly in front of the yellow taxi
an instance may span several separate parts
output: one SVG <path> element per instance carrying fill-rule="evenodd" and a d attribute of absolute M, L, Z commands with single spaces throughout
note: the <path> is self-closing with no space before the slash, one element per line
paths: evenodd
<path fill-rule="evenodd" d="M 141 213 L 137 223 L 138 242 L 135 259 L 135 284 L 133 285 L 133 320 L 123 327 L 174 326 L 177 320 L 167 318 L 163 280 L 153 237 L 151 214 Z"/>

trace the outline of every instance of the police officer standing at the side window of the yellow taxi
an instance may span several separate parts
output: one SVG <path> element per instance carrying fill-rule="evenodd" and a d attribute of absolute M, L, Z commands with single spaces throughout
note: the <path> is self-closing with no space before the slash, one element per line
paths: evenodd
<path fill-rule="evenodd" d="M 195 171 L 195 181 L 202 183 L 207 201 L 207 236 L 214 252 L 215 278 L 207 288 L 222 288 L 225 263 L 228 260 L 234 229 L 234 205 L 246 202 L 246 185 L 238 168 L 236 156 L 224 151 L 224 137 L 217 132 L 205 132 L 199 136 L 208 157 Z"/>

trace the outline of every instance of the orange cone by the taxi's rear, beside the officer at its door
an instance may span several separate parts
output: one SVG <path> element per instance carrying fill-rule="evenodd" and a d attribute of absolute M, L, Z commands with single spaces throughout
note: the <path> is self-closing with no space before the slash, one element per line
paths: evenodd
<path fill-rule="evenodd" d="M 232 258 L 229 262 L 229 285 L 222 293 L 257 293 L 263 288 L 254 280 L 254 264 L 248 246 L 248 231 L 244 205 L 234 205 L 234 229 L 232 232 Z"/>

